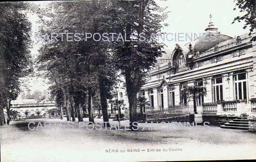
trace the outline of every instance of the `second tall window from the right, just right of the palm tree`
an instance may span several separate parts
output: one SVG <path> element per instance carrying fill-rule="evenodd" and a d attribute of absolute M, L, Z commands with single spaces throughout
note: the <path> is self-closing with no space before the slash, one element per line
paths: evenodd
<path fill-rule="evenodd" d="M 213 101 L 223 100 L 222 75 L 217 75 L 212 78 Z"/>

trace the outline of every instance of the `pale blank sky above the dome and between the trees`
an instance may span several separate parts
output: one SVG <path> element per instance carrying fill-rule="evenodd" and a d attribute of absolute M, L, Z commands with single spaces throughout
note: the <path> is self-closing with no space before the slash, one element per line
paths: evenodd
<path fill-rule="evenodd" d="M 212 14 L 212 21 L 218 31 L 221 34 L 228 35 L 230 37 L 236 37 L 245 33 L 249 33 L 248 29 L 243 29 L 244 22 L 236 22 L 231 24 L 236 16 L 242 13 L 238 10 L 233 10 L 235 7 L 234 0 L 155 0 L 159 6 L 168 6 L 166 11 L 170 12 L 168 14 L 168 19 L 164 23 L 169 24 L 167 27 L 163 28 L 163 32 L 166 33 L 203 33 L 206 27 L 209 25 L 209 15 Z M 44 7 L 49 1 L 35 1 L 29 2 L 40 4 Z M 32 22 L 32 35 L 38 29 L 39 20 L 37 15 L 28 14 L 28 19 Z M 34 40 L 34 39 L 33 39 Z M 184 40 L 184 39 L 182 39 Z M 165 49 L 174 50 L 175 44 L 186 44 L 186 41 L 164 41 L 167 45 Z M 31 49 L 31 54 L 38 56 L 38 49 L 40 44 L 34 43 Z M 43 91 L 47 89 L 49 85 L 47 80 L 43 78 L 31 77 L 29 78 L 29 89 L 34 92 L 34 90 Z"/>

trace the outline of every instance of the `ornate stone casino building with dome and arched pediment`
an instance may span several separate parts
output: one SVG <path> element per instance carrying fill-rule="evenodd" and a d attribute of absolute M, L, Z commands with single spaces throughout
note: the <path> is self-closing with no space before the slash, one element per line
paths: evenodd
<path fill-rule="evenodd" d="M 168 109 L 193 114 L 196 107 L 195 118 L 256 117 L 256 42 L 248 34 L 234 38 L 221 34 L 211 15 L 205 32 L 183 46 L 176 44 L 170 60 L 149 71 L 139 94 L 149 101 L 146 114 L 158 110 L 167 114 Z M 206 94 L 195 100 L 182 97 L 182 90 L 191 86 L 205 87 Z"/>

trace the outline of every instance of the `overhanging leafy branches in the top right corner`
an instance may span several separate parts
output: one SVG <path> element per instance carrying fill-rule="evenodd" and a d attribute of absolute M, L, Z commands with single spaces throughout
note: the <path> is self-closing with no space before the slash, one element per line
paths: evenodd
<path fill-rule="evenodd" d="M 236 2 L 236 7 L 240 9 L 240 12 L 245 12 L 243 16 L 237 16 L 233 22 L 235 21 L 241 22 L 245 21 L 245 25 L 243 29 L 246 29 L 248 26 L 250 27 L 249 36 L 256 30 L 256 0 L 234 0 Z M 236 7 L 234 10 L 236 10 Z M 251 41 L 256 41 L 256 36 L 252 37 Z"/>

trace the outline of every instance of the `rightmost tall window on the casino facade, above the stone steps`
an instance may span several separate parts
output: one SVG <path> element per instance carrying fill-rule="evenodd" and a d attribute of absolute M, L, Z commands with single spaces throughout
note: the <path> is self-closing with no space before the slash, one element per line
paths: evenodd
<path fill-rule="evenodd" d="M 247 73 L 239 71 L 234 75 L 236 100 L 247 100 Z"/>

